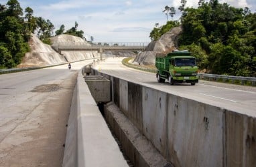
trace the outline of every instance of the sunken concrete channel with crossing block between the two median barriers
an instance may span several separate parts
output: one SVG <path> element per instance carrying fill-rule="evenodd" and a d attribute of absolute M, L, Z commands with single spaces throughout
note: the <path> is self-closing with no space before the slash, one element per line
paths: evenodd
<path fill-rule="evenodd" d="M 90 93 L 97 102 L 99 110 L 129 166 L 172 166 L 141 135 L 129 119 L 111 102 L 111 81 L 101 75 L 84 75 Z"/>

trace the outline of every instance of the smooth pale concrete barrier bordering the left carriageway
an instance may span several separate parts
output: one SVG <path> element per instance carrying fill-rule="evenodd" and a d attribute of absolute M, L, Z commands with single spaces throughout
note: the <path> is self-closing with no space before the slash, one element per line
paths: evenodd
<path fill-rule="evenodd" d="M 62 166 L 128 166 L 81 71 L 72 98 Z"/>

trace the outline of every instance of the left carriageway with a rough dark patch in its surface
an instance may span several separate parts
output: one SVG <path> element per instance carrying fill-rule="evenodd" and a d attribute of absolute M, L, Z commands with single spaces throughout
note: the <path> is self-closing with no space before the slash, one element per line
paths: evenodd
<path fill-rule="evenodd" d="M 80 61 L 0 75 L 0 166 L 62 166 Z"/>

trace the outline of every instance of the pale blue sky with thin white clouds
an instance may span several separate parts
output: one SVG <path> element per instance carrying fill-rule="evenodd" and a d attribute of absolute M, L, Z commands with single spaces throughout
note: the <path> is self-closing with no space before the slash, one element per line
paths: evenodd
<path fill-rule="evenodd" d="M 65 30 L 78 23 L 78 30 L 93 42 L 149 42 L 150 32 L 155 26 L 166 24 L 164 7 L 175 7 L 174 20 L 180 18 L 178 0 L 18 0 L 23 12 L 31 7 L 34 16 L 49 19 L 54 32 L 65 26 Z M 207 1 L 207 0 L 206 0 Z M 219 0 L 233 7 L 249 7 L 256 12 L 255 0 Z M 7 0 L 0 0 L 5 5 Z M 198 1 L 187 0 L 186 7 L 197 7 Z M 24 12 L 25 13 L 25 12 Z M 169 18 L 171 20 L 172 18 Z"/>

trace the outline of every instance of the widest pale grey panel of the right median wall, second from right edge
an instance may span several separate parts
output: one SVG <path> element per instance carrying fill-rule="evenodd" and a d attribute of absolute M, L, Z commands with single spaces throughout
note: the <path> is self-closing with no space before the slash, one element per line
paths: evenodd
<path fill-rule="evenodd" d="M 168 94 L 168 160 L 176 166 L 222 166 L 222 109 Z"/>

